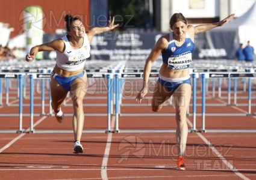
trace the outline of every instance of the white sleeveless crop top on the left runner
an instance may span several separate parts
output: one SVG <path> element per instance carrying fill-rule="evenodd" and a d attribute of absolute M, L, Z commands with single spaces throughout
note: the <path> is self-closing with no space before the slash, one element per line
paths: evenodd
<path fill-rule="evenodd" d="M 61 38 L 65 44 L 63 53 L 56 50 L 56 64 L 59 68 L 67 71 L 76 71 L 84 67 L 86 59 L 90 57 L 90 44 L 87 35 L 84 35 L 84 43 L 80 49 L 73 49 L 67 36 Z"/>

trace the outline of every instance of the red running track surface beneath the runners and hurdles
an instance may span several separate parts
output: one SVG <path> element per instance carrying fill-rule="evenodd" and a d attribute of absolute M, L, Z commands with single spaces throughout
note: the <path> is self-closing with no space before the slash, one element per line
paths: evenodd
<path fill-rule="evenodd" d="M 84 103 L 105 103 L 104 98 L 90 98 L 101 96 L 105 95 L 87 95 Z M 239 103 L 244 103 L 242 101 Z M 23 103 L 29 103 L 29 100 Z M 40 100 L 34 103 L 40 103 Z M 123 104 L 126 103 L 134 103 L 134 98 L 123 100 Z M 225 104 L 226 100 L 209 98 L 207 103 Z M 255 100 L 252 103 L 256 103 Z M 17 104 L 17 100 L 11 99 L 11 104 Z M 197 107 L 199 113 L 200 108 Z M 35 113 L 40 113 L 40 109 L 35 106 Z M 85 113 L 95 114 L 105 113 L 106 109 L 105 106 L 84 107 Z M 246 106 L 207 106 L 206 111 L 241 113 L 246 110 Z M 72 107 L 64 106 L 63 111 L 72 113 Z M 13 116 L 0 117 L 0 130 L 17 129 L 19 117 L 14 114 L 19 112 L 18 107 L 0 107 L 1 114 L 7 112 Z M 29 106 L 23 107 L 23 113 L 29 113 Z M 134 106 L 122 106 L 121 113 L 151 113 L 151 107 L 134 103 Z M 174 113 L 174 109 L 165 106 L 161 113 Z M 59 124 L 52 116 L 35 116 L 35 133 L 1 133 L 1 179 L 256 179 L 255 133 L 189 133 L 185 158 L 187 170 L 177 171 L 175 133 L 122 133 L 122 130 L 175 130 L 173 116 L 121 115 L 120 133 L 84 133 L 81 140 L 84 153 L 78 155 L 72 154 L 72 133 L 37 133 L 39 130 L 72 130 L 71 118 L 66 116 Z M 112 130 L 115 119 L 111 116 Z M 201 116 L 196 119 L 196 128 L 200 130 Z M 187 122 L 191 128 L 192 116 L 187 116 Z M 211 130 L 254 130 L 256 117 L 206 116 L 205 125 Z M 29 130 L 29 116 L 23 117 L 23 128 Z M 106 128 L 105 116 L 86 116 L 84 130 L 104 131 Z"/>

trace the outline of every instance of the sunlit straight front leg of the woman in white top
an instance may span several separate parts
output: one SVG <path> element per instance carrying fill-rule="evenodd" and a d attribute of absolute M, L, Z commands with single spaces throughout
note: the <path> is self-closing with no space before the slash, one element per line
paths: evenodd
<path fill-rule="evenodd" d="M 81 140 L 84 127 L 83 99 L 87 92 L 87 74 L 76 78 L 70 89 L 70 97 L 73 101 L 73 133 L 75 140 Z"/>

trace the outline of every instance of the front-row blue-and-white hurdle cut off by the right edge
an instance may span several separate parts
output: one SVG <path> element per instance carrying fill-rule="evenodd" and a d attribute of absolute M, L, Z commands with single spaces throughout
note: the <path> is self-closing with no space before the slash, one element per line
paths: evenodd
<path fill-rule="evenodd" d="M 250 116 L 251 115 L 251 78 L 256 77 L 255 73 L 200 73 L 202 79 L 202 128 L 201 132 L 205 133 L 206 131 L 209 133 L 226 133 L 226 132 L 234 132 L 234 133 L 255 133 L 256 130 L 205 130 L 205 116 Z M 248 112 L 246 113 L 206 113 L 205 112 L 205 79 L 207 78 L 228 78 L 228 94 L 230 96 L 231 91 L 231 78 L 243 77 L 248 78 Z M 228 104 L 230 104 L 230 98 L 228 98 Z"/>

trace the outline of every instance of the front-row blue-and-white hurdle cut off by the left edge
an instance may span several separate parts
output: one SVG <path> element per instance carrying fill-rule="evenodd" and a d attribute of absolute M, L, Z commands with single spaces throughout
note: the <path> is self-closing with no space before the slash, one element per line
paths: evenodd
<path fill-rule="evenodd" d="M 7 114 L 7 113 L 2 113 L 0 116 L 19 116 L 19 128 L 18 130 L 1 130 L 0 133 L 23 133 L 23 129 L 22 129 L 22 104 L 23 104 L 23 96 L 22 96 L 22 85 L 23 85 L 23 76 L 25 76 L 25 74 L 10 74 L 10 73 L 0 73 L 0 79 L 4 78 L 4 79 L 18 79 L 19 81 L 19 114 Z M 0 82 L 2 83 L 2 81 Z M 7 83 L 8 84 L 8 83 Z M 7 85 L 8 86 L 8 85 Z M 2 85 L 1 85 L 2 87 Z M 1 89 L 1 88 L 0 88 Z M 7 87 L 8 89 L 8 87 Z M 7 90 L 8 91 L 8 90 Z M 2 90 L 1 90 L 2 93 Z M 6 92 L 8 93 L 8 92 Z"/>

